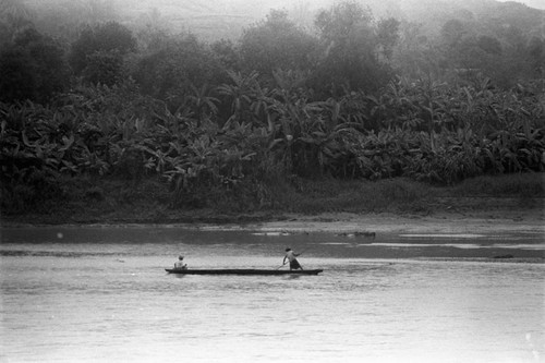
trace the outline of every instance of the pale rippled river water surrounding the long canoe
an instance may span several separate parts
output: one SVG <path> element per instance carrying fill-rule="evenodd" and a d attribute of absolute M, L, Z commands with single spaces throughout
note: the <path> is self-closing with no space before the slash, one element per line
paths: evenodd
<path fill-rule="evenodd" d="M 544 362 L 542 234 L 3 228 L 1 362 Z M 319 276 L 175 276 L 281 266 Z M 514 258 L 491 258 L 512 255 Z M 282 267 L 286 268 L 286 267 Z"/>

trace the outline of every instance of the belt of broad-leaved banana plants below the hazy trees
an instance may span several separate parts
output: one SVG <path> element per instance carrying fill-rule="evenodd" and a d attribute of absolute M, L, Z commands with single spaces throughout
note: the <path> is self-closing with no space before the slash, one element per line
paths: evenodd
<path fill-rule="evenodd" d="M 233 77 L 239 88 L 223 87 L 233 97 L 233 114 L 223 125 L 210 119 L 216 101 L 198 97 L 206 94 L 198 89 L 187 98 L 191 113 L 171 113 L 132 84 L 81 88 L 50 107 L 3 104 L 7 185 L 36 172 L 114 174 L 132 182 L 157 174 L 170 183 L 173 206 L 205 206 L 244 193 L 242 205 L 255 207 L 276 203 L 267 192 L 271 176 L 404 176 L 452 184 L 544 167 L 543 108 L 531 108 L 538 87 L 506 93 L 486 82 L 457 89 L 399 80 L 378 99 L 360 94 L 310 101 L 290 74 L 277 74 L 270 90 L 255 77 Z M 354 109 L 360 120 L 371 120 L 377 107 L 384 108 L 378 131 L 355 122 Z M 244 116 L 244 109 L 254 112 Z M 397 118 L 401 110 L 405 117 Z"/>

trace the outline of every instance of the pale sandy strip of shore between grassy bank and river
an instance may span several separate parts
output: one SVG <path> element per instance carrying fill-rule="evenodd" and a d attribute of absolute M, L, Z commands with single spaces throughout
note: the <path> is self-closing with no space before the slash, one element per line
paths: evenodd
<path fill-rule="evenodd" d="M 402 214 L 351 214 L 332 213 L 320 215 L 282 214 L 279 216 L 237 216 L 206 220 L 195 218 L 167 218 L 165 220 L 114 219 L 104 217 L 89 222 L 56 220 L 55 223 L 34 222 L 34 218 L 2 220 L 2 228 L 36 226 L 175 226 L 203 230 L 250 230 L 262 232 L 375 232 L 375 233 L 541 233 L 545 242 L 545 208 L 465 208 L 447 211 L 436 210 L 429 215 Z"/>

